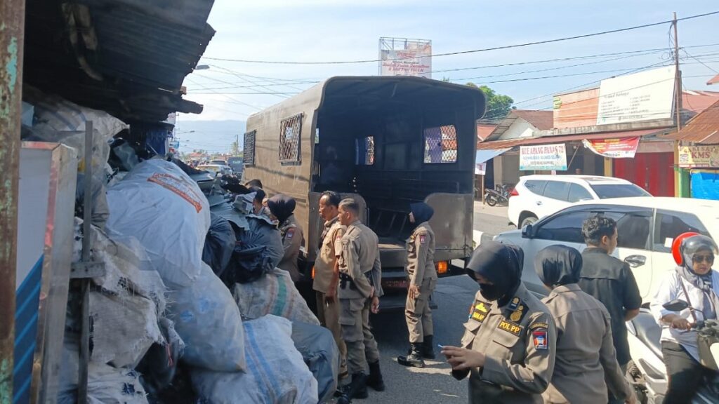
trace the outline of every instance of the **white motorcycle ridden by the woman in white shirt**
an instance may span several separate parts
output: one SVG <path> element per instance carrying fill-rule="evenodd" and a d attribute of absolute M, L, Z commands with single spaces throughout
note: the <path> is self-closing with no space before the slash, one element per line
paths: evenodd
<path fill-rule="evenodd" d="M 672 300 L 664 304 L 670 311 L 689 308 L 683 300 Z M 661 327 L 654 320 L 651 311 L 642 308 L 638 316 L 626 322 L 628 330 L 629 362 L 627 377 L 642 404 L 661 403 L 667 392 L 667 367 L 661 354 Z M 700 362 L 705 367 L 719 372 L 719 321 L 697 321 Z M 697 391 L 692 403 L 719 403 L 719 377 L 705 380 Z"/>

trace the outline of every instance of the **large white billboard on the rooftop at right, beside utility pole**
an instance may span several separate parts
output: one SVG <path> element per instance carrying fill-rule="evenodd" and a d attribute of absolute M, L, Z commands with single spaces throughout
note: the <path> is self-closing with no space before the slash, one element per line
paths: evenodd
<path fill-rule="evenodd" d="M 597 125 L 672 119 L 676 71 L 669 66 L 603 80 Z"/>

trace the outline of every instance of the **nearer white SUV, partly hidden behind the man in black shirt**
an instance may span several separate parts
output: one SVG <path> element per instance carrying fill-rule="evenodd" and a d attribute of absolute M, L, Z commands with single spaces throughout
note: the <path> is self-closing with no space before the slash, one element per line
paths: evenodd
<path fill-rule="evenodd" d="M 546 295 L 534 270 L 537 252 L 552 244 L 582 251 L 586 247 L 582 224 L 595 214 L 617 222 L 619 239 L 613 255 L 631 267 L 645 303 L 676 267 L 672 258 L 674 238 L 695 231 L 719 240 L 719 201 L 692 198 L 618 198 L 575 203 L 522 230 L 505 231 L 495 240 L 523 249 L 522 280 L 529 290 Z"/>

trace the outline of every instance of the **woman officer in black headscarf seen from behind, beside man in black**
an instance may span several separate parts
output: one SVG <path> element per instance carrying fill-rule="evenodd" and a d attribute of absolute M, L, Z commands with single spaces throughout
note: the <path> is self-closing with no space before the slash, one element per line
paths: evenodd
<path fill-rule="evenodd" d="M 557 361 L 544 403 L 605 404 L 607 386 L 615 398 L 635 403 L 617 362 L 609 312 L 577 285 L 582 254 L 572 247 L 549 246 L 536 254 L 534 268 L 551 290 L 542 301 L 557 325 Z"/>

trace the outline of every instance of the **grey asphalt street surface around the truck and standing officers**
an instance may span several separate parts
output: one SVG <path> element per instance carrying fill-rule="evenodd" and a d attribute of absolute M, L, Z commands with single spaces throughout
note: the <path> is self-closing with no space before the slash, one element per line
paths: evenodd
<path fill-rule="evenodd" d="M 502 231 L 516 229 L 508 225 L 505 207 L 491 208 L 475 203 L 474 220 L 475 230 L 482 231 L 482 241 L 492 239 Z M 398 355 L 406 354 L 408 348 L 403 311 L 372 316 L 387 390 L 375 392 L 370 389 L 367 400 L 353 400 L 353 403 L 467 403 L 467 380 L 458 381 L 449 375 L 450 367 L 436 345 L 459 344 L 464 332 L 462 323 L 467 320 L 477 289 L 475 281 L 467 275 L 439 280 L 433 296 L 438 306 L 433 311 L 437 359 L 426 361 L 427 366 L 422 369 L 403 367 L 397 363 Z"/>

